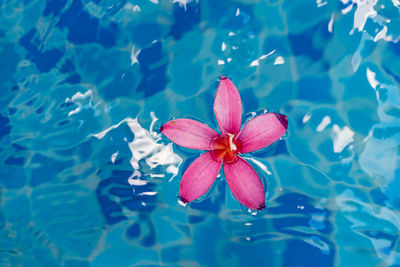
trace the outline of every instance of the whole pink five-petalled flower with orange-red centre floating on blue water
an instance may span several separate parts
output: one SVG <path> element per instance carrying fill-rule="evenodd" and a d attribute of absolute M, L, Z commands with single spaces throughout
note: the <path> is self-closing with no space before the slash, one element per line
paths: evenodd
<path fill-rule="evenodd" d="M 161 126 L 161 132 L 175 144 L 208 150 L 183 174 L 180 198 L 187 203 L 205 194 L 224 165 L 226 181 L 235 198 L 250 209 L 264 209 L 265 194 L 260 177 L 238 154 L 259 150 L 281 138 L 288 126 L 287 117 L 265 113 L 250 119 L 240 129 L 242 101 L 232 81 L 223 76 L 214 99 L 214 113 L 221 134 L 190 119 L 176 119 Z"/>

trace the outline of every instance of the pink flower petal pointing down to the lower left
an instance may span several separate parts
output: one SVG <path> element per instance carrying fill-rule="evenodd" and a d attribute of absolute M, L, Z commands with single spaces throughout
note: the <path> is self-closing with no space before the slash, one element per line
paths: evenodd
<path fill-rule="evenodd" d="M 213 160 L 211 153 L 209 151 L 198 157 L 183 174 L 179 185 L 179 196 L 183 202 L 204 195 L 217 178 L 222 161 Z"/>

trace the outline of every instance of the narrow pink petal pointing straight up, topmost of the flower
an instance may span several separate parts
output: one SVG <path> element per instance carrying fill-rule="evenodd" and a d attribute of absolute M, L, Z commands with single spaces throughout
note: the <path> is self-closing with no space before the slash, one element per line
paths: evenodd
<path fill-rule="evenodd" d="M 242 123 L 242 100 L 236 86 L 221 76 L 214 99 L 214 113 L 221 134 L 237 134 Z"/>

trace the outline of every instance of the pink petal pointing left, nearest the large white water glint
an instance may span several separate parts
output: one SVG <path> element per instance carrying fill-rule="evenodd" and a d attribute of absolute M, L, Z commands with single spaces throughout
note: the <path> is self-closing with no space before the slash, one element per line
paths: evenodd
<path fill-rule="evenodd" d="M 211 141 L 219 134 L 204 123 L 191 119 L 176 119 L 161 126 L 161 132 L 177 145 L 210 150 Z"/>

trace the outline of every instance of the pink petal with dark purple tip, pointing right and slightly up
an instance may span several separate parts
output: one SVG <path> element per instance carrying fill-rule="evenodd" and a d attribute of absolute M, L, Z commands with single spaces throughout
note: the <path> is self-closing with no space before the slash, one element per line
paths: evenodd
<path fill-rule="evenodd" d="M 279 113 L 265 113 L 250 119 L 236 138 L 241 144 L 240 153 L 269 146 L 282 137 L 287 126 L 287 117 Z"/>

